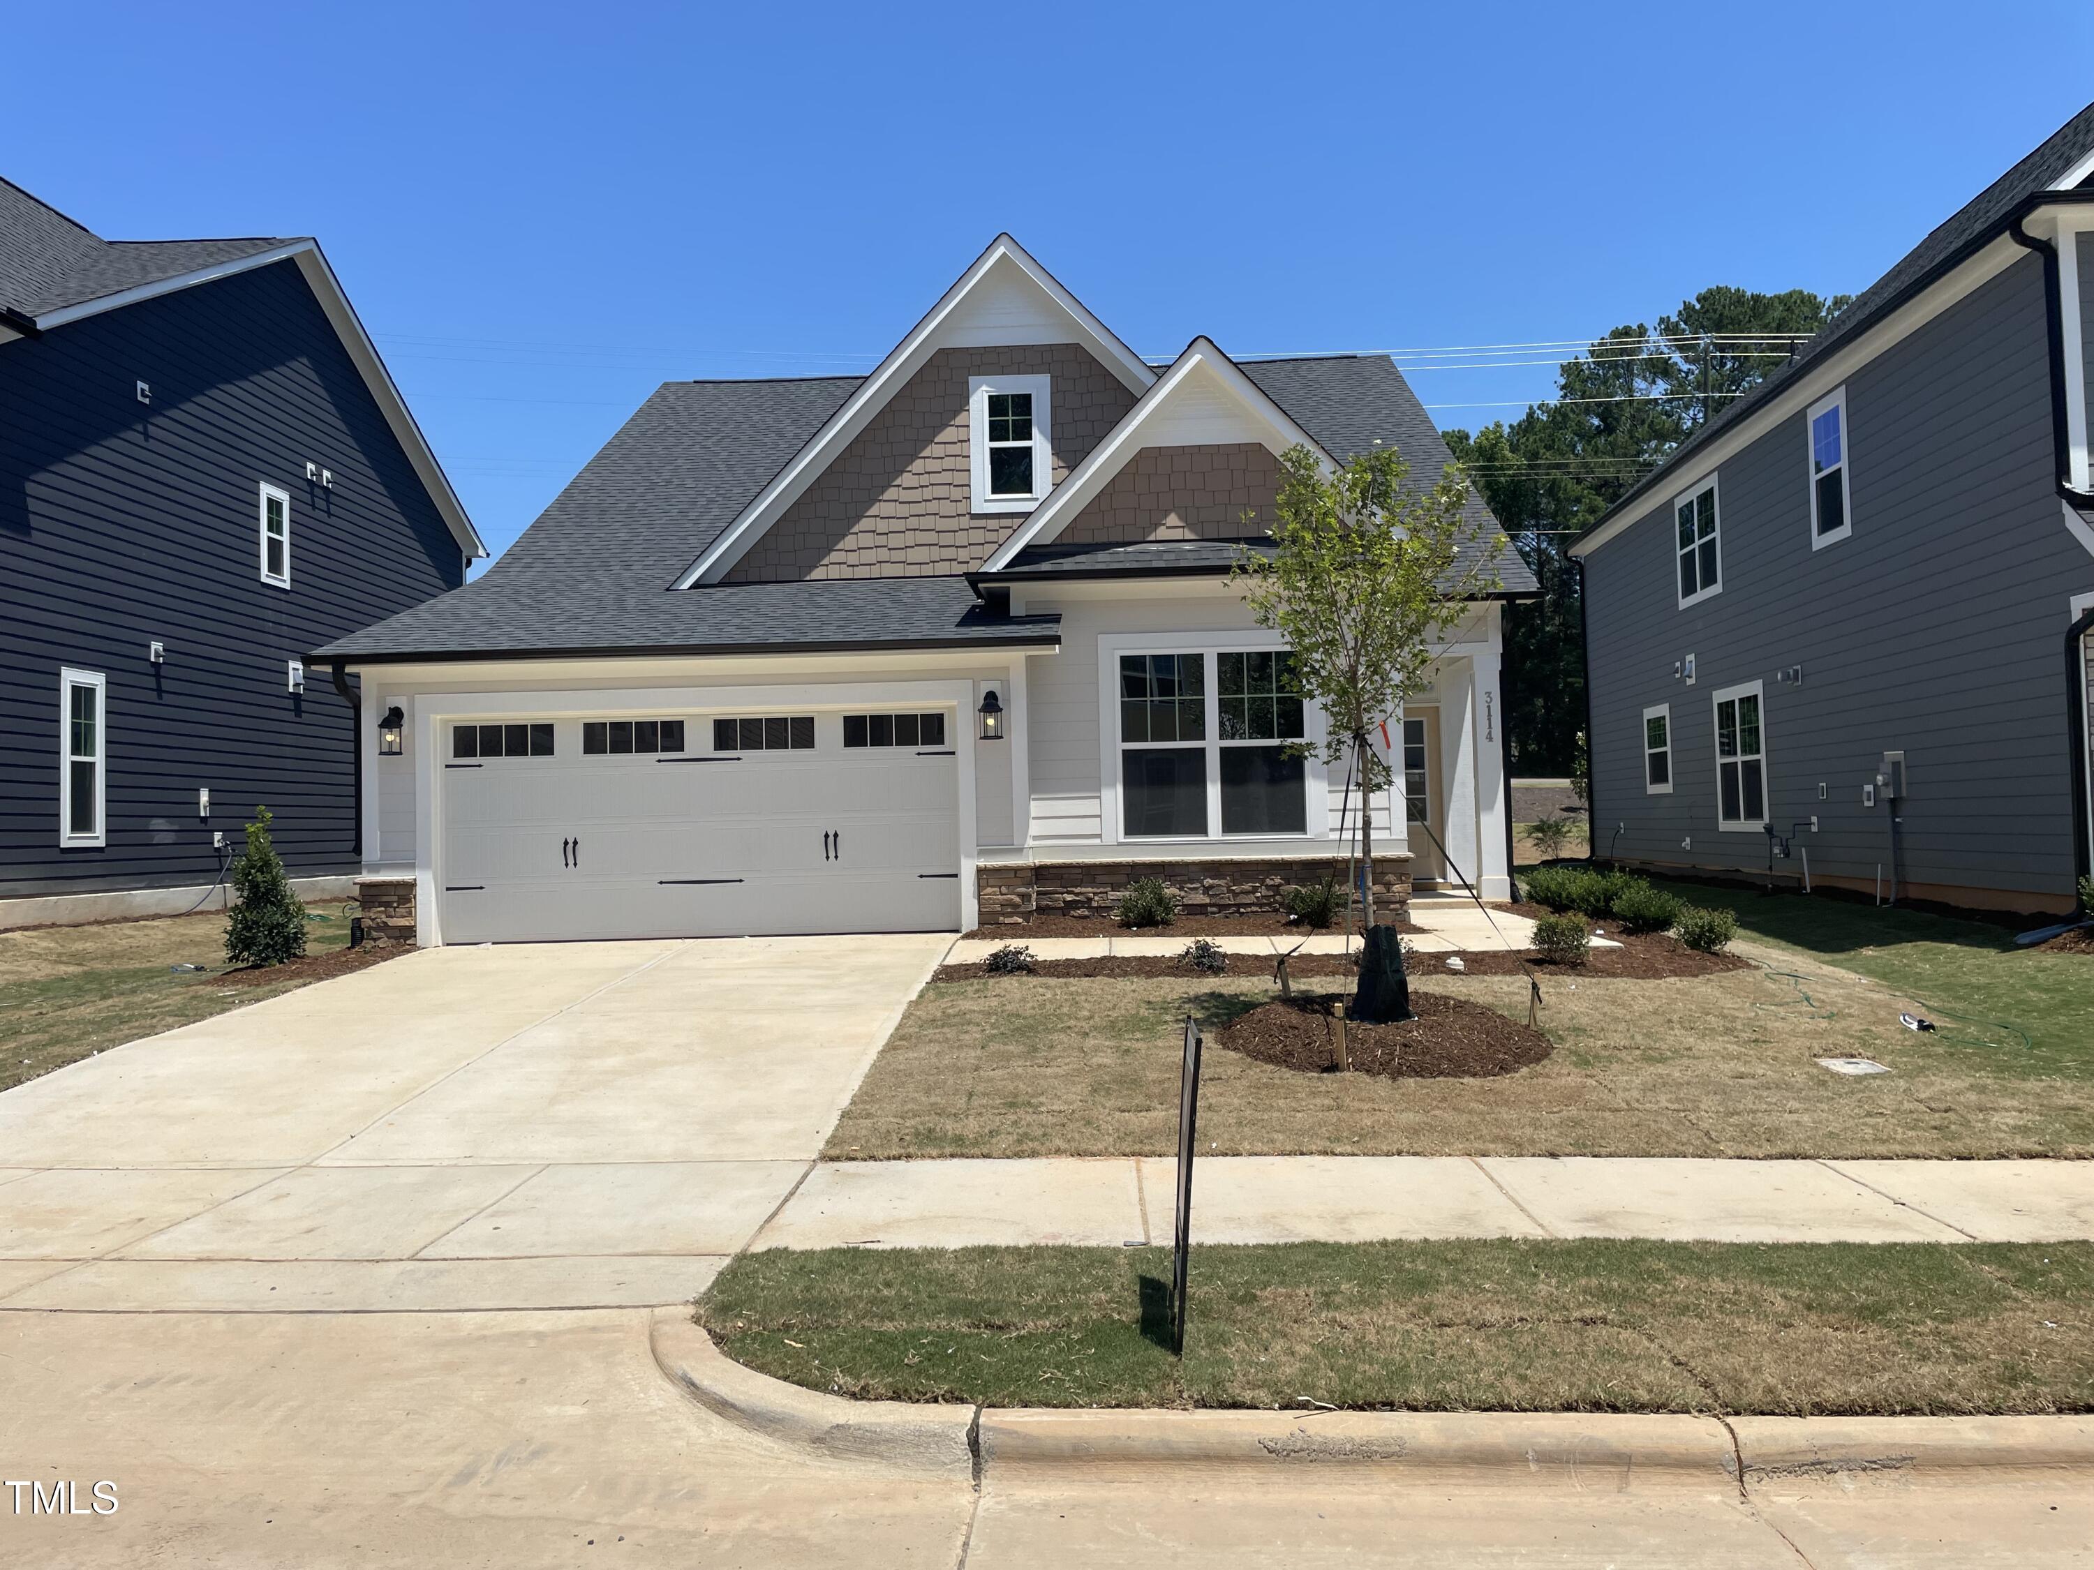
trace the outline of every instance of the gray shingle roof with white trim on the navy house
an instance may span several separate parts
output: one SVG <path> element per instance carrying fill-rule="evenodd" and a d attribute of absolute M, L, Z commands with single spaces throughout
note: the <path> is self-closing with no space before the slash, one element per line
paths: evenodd
<path fill-rule="evenodd" d="M 310 237 L 105 241 L 50 203 L 0 180 L 0 345 L 276 262 L 297 264 L 459 548 L 469 557 L 484 557 L 488 548 L 450 488 L 450 477 L 364 333 L 341 281 Z"/>

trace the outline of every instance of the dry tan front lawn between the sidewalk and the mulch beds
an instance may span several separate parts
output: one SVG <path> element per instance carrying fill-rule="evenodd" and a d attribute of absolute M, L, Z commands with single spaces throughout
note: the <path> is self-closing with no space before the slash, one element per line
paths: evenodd
<path fill-rule="evenodd" d="M 2094 1156 L 2094 1082 L 1920 1036 L 1910 1001 L 1790 952 L 1723 975 L 1543 980 L 1556 1053 L 1493 1080 L 1307 1076 L 1206 1055 L 1215 1153 Z M 1524 1019 L 1520 978 L 1418 986 Z M 1166 1156 L 1179 1022 L 1225 1024 L 1263 978 L 1009 978 L 926 988 L 829 1139 L 831 1160 Z M 1818 1057 L 1876 1057 L 1841 1078 Z"/>

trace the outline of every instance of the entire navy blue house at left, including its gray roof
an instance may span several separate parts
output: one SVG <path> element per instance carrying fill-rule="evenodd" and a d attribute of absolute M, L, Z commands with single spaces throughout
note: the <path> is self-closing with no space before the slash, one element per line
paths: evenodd
<path fill-rule="evenodd" d="M 477 555 L 312 241 L 111 243 L 0 180 L 0 925 L 182 909 L 258 804 L 352 875 L 356 689 L 297 661 Z"/>

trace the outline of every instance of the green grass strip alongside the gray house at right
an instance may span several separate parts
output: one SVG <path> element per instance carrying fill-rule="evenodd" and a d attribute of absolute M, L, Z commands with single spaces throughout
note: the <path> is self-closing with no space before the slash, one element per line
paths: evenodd
<path fill-rule="evenodd" d="M 1943 1042 L 2002 1074 L 2094 1078 L 2094 955 L 2017 948 L 1983 921 L 1652 879 L 1738 913 L 1740 934 L 1870 975 L 1922 1005 Z"/>

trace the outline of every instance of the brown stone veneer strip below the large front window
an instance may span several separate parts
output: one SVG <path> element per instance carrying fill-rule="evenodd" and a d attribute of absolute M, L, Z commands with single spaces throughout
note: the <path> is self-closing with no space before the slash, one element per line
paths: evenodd
<path fill-rule="evenodd" d="M 1112 921 L 1112 909 L 1137 877 L 1160 877 L 1185 915 L 1282 915 L 1288 888 L 1315 883 L 1334 869 L 1342 877 L 1342 862 L 1330 856 L 982 862 L 976 890 L 984 927 L 1022 925 L 1034 915 Z M 1376 915 L 1395 921 L 1409 915 L 1409 854 L 1374 858 L 1374 902 Z"/>

